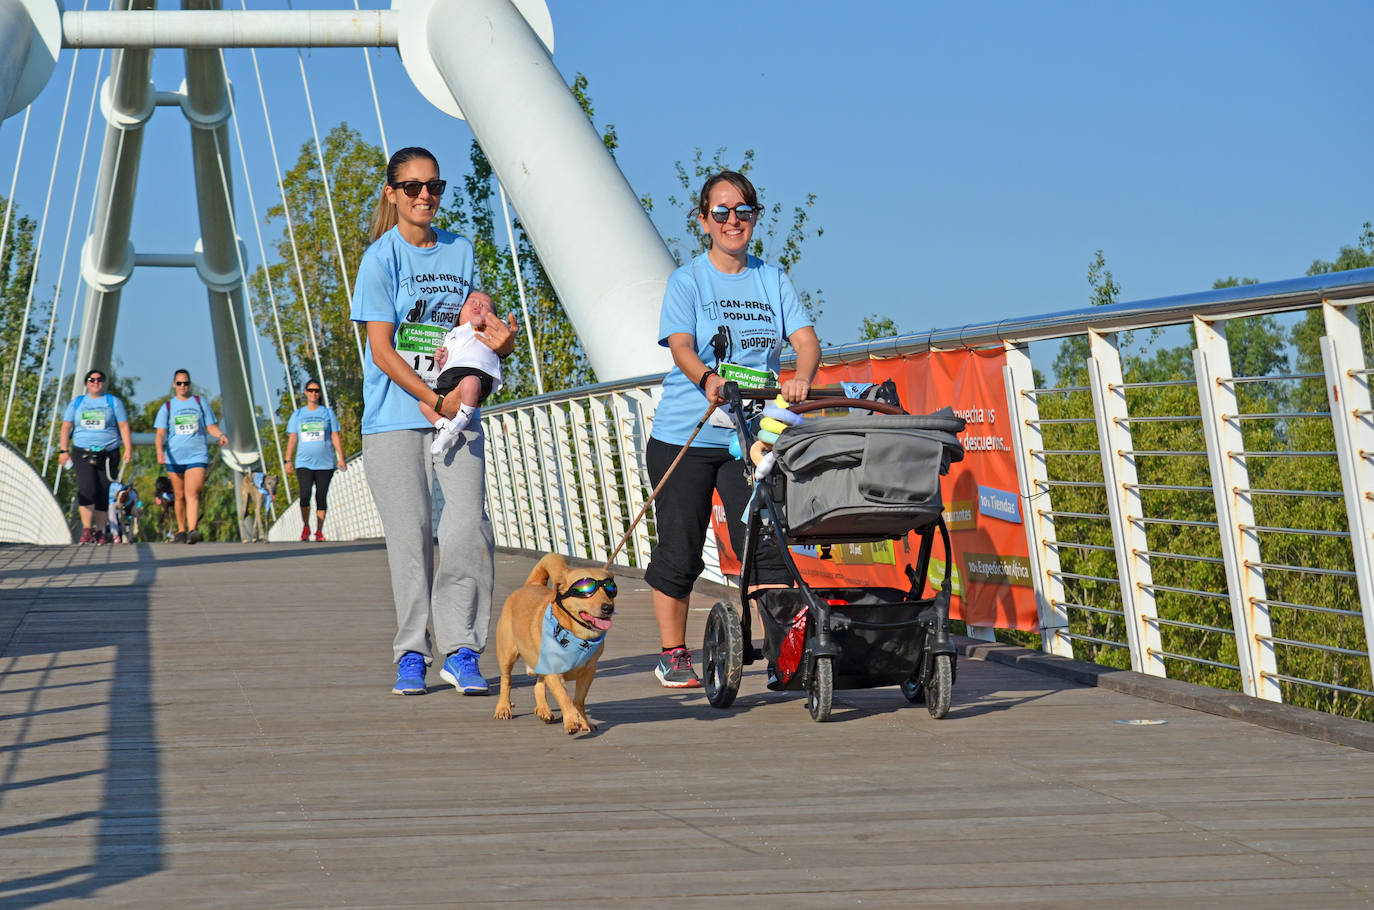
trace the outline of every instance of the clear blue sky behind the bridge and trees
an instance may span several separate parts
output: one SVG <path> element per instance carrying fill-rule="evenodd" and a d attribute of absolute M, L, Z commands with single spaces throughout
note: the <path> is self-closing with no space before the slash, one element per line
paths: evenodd
<path fill-rule="evenodd" d="M 673 162 L 698 146 L 724 146 L 731 159 L 753 148 L 765 201 L 816 194 L 824 236 L 808 242 L 793 278 L 820 290 L 827 344 L 853 341 L 866 313 L 923 331 L 1084 305 L 1096 249 L 1124 300 L 1205 290 L 1226 275 L 1293 278 L 1374 220 L 1367 1 L 548 7 L 555 63 L 569 80 L 588 77 L 596 122 L 616 125 L 621 168 L 657 201 L 661 228 L 680 223 L 666 210 Z M 322 133 L 348 120 L 376 142 L 361 54 L 315 51 L 306 71 Z M 56 157 L 70 55 L 29 125 L 16 197 L 34 217 Z M 76 219 L 59 335 L 99 154 L 96 129 L 73 209 L 96 55 L 84 51 L 77 69 L 43 253 L 40 294 L 51 293 L 62 232 Z M 295 54 L 260 51 L 260 60 L 279 151 L 294 161 L 309 139 Z M 393 51 L 372 60 L 392 146 L 429 146 L 445 176 L 459 176 L 467 126 L 419 98 Z M 228 52 L 228 67 L 261 216 L 275 184 L 247 52 Z M 179 51 L 157 52 L 157 88 L 174 89 L 183 74 Z M 147 129 L 133 243 L 185 250 L 198 234 L 188 128 L 159 109 Z M 0 194 L 18 139 L 19 117 L 4 121 Z M 235 179 L 256 263 L 238 168 Z M 140 397 L 162 395 L 177 366 L 207 363 L 194 275 L 136 272 L 115 349 L 122 371 L 142 377 Z M 196 378 L 213 385 L 209 370 Z M 280 388 L 279 374 L 269 379 Z"/>

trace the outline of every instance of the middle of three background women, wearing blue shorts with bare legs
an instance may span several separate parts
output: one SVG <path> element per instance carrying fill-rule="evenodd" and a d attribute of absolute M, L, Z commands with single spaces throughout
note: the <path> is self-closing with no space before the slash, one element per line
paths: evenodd
<path fill-rule="evenodd" d="M 213 437 L 228 445 L 229 437 L 220 430 L 209 401 L 191 395 L 191 374 L 177 370 L 172 374 L 172 397 L 158 408 L 153 419 L 157 434 L 153 444 L 158 450 L 158 465 L 168 469 L 172 493 L 176 496 L 176 536 L 173 543 L 199 543 L 201 489 L 205 471 L 210 467 Z"/>

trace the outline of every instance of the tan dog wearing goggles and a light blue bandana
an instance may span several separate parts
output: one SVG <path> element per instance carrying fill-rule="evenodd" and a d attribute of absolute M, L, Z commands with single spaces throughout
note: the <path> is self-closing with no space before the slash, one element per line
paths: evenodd
<path fill-rule="evenodd" d="M 570 568 L 555 553 L 540 559 L 525 586 L 506 598 L 496 623 L 496 663 L 502 669 L 496 719 L 511 718 L 511 671 L 517 660 L 523 660 L 537 676 L 534 716 L 544 723 L 555 720 L 547 689 L 563 713 L 565 733 L 595 730 L 587 718 L 587 693 L 614 614 L 616 576 L 610 572 Z M 572 696 L 565 683 L 574 686 Z"/>

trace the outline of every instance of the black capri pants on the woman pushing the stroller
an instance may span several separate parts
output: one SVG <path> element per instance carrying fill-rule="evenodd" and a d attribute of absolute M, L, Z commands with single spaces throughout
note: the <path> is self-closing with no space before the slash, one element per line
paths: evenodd
<path fill-rule="evenodd" d="M 680 445 L 650 437 L 644 448 L 649 480 L 657 487 L 677 458 Z M 701 547 L 706 543 L 706 524 L 710 521 L 710 491 L 720 492 L 725 507 L 725 526 L 730 546 L 745 557 L 745 524 L 741 515 L 749 504 L 749 484 L 745 462 L 730 451 L 716 447 L 692 447 L 673 470 L 668 482 L 654 499 L 654 518 L 658 525 L 658 546 L 649 557 L 644 580 L 655 591 L 682 598 L 691 594 L 702 569 Z M 754 551 L 754 570 L 750 584 L 791 584 L 791 573 L 778 551 L 772 533 L 761 533 Z"/>

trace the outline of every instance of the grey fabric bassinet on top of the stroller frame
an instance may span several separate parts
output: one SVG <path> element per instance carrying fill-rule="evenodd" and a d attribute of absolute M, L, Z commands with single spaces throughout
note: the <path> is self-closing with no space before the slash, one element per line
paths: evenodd
<path fill-rule="evenodd" d="M 929 528 L 944 510 L 940 476 L 963 459 L 965 422 L 927 415 L 830 417 L 778 437 L 769 495 L 804 540 L 879 540 Z"/>

